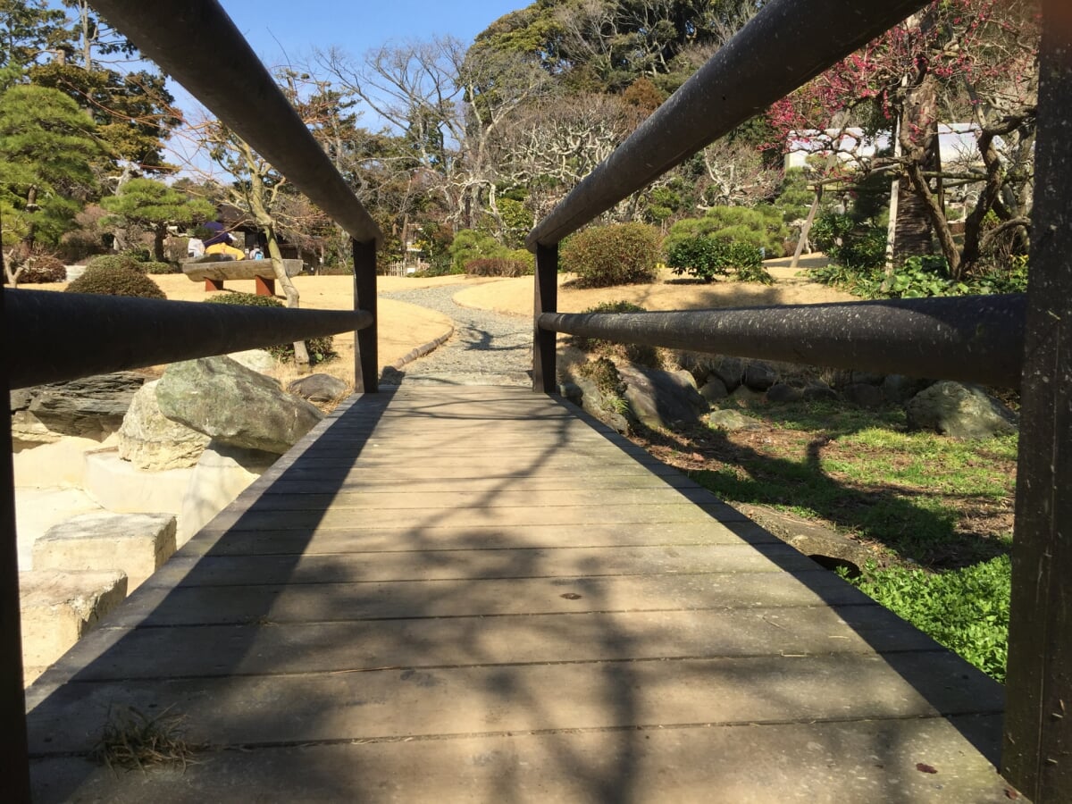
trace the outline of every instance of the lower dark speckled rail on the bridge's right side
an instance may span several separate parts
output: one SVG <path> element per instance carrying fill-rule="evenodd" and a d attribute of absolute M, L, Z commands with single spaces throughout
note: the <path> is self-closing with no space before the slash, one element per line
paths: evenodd
<path fill-rule="evenodd" d="M 861 367 L 1017 388 L 1023 294 L 651 313 L 544 313 L 540 329 L 621 343 Z"/>

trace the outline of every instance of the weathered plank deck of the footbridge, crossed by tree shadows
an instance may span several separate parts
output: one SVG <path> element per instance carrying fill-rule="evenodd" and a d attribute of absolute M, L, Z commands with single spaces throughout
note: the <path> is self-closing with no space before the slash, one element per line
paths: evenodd
<path fill-rule="evenodd" d="M 121 705 L 196 764 L 89 762 Z M 45 802 L 1007 801 L 997 684 L 518 388 L 347 401 L 28 706 Z"/>

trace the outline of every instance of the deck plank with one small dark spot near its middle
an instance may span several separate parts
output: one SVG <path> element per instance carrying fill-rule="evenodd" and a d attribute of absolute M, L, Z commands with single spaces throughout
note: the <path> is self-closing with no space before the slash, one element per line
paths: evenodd
<path fill-rule="evenodd" d="M 108 619 L 119 627 L 329 623 L 508 614 L 846 606 L 870 599 L 823 569 L 609 578 L 180 586 L 143 584 Z"/>

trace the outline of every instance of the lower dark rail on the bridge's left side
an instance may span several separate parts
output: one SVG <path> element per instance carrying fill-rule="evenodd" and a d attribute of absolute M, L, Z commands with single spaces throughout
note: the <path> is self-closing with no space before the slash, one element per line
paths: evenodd
<path fill-rule="evenodd" d="M 372 326 L 363 310 L 285 310 L 49 291 L 4 292 L 11 388 L 293 343 Z M 32 334 L 29 334 L 31 333 Z"/>

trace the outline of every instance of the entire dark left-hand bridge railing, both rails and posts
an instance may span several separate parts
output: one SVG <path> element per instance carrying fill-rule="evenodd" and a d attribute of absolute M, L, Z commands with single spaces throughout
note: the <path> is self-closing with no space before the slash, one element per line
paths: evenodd
<path fill-rule="evenodd" d="M 383 233 L 214 0 L 93 0 L 93 6 L 353 239 L 354 311 L 218 308 L 179 301 L 0 293 L 0 379 L 9 388 L 353 331 L 354 385 L 377 389 L 376 249 Z M 0 448 L 0 773 L 30 800 L 11 430 Z"/>

